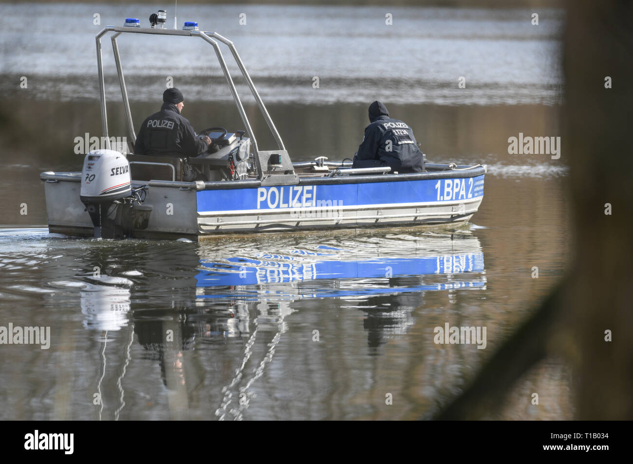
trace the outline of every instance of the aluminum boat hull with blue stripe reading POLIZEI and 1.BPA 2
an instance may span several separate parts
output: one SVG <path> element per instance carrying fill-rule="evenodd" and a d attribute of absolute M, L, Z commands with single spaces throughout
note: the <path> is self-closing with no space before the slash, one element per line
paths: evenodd
<path fill-rule="evenodd" d="M 435 165 L 436 167 L 442 165 Z M 485 166 L 415 174 L 301 177 L 294 185 L 260 180 L 132 181 L 146 185 L 149 215 L 134 237 L 204 239 L 225 234 L 373 227 L 454 226 L 484 196 Z M 42 173 L 49 231 L 92 237 L 79 199 L 80 173 Z"/>

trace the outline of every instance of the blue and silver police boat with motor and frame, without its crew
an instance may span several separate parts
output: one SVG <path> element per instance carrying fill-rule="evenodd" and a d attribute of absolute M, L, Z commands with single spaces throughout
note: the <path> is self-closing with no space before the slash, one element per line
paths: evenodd
<path fill-rule="evenodd" d="M 375 227 L 454 227 L 477 212 L 486 166 L 425 164 L 425 172 L 391 172 L 389 166 L 353 168 L 351 161 L 293 163 L 233 42 L 203 32 L 195 22 L 165 28 L 165 12 L 107 26 L 96 35 L 104 149 L 84 158 L 82 172 L 44 172 L 49 232 L 79 237 L 192 239 L 225 234 L 297 232 Z M 203 40 L 213 47 L 244 130 L 210 127 L 198 134 L 214 143 L 196 158 L 133 153 L 136 132 L 117 39 L 146 34 Z M 127 146 L 114 148 L 108 132 L 101 41 L 110 35 L 121 88 Z M 228 49 L 258 105 L 277 147 L 258 146 L 222 51 Z M 207 181 L 184 182 L 196 166 Z"/>

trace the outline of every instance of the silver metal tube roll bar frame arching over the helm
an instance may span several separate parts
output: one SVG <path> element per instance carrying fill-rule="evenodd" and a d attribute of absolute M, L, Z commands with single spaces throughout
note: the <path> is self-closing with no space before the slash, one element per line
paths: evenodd
<path fill-rule="evenodd" d="M 251 124 L 249 123 L 248 117 L 246 116 L 246 111 L 244 110 L 244 106 L 242 106 L 242 101 L 239 95 L 237 94 L 237 89 L 235 89 L 235 84 L 229 73 L 229 68 L 227 68 L 227 64 L 226 64 L 226 61 L 224 60 L 222 51 L 220 50 L 220 46 L 218 45 L 218 41 L 225 44 L 227 47 L 229 47 L 229 50 L 231 54 L 233 55 L 233 58 L 235 59 L 235 63 L 237 63 L 237 67 L 241 71 L 244 79 L 246 79 L 246 83 L 248 84 L 248 87 L 251 90 L 251 93 L 253 94 L 253 97 L 255 98 L 255 101 L 257 102 L 258 107 L 260 108 L 261 114 L 264 116 L 264 119 L 266 120 L 266 123 L 268 124 L 268 128 L 270 129 L 270 132 L 272 132 L 273 137 L 275 137 L 275 141 L 277 142 L 277 146 L 279 147 L 279 150 L 285 151 L 284 142 L 282 141 L 279 135 L 279 132 L 277 131 L 277 128 L 275 127 L 275 123 L 273 123 L 272 119 L 270 118 L 270 115 L 268 114 L 268 110 L 266 110 L 266 106 L 261 100 L 260 94 L 257 92 L 257 89 L 255 89 L 253 80 L 251 80 L 251 77 L 246 71 L 246 68 L 244 67 L 244 63 L 242 63 L 242 60 L 239 54 L 237 53 L 237 49 L 235 49 L 233 42 L 229 41 L 229 39 L 226 39 L 225 37 L 222 37 L 222 35 L 217 34 L 216 32 L 203 32 L 201 30 L 177 30 L 177 29 L 160 29 L 160 28 L 145 28 L 145 27 L 128 27 L 128 26 L 106 26 L 95 37 L 96 46 L 97 46 L 97 67 L 99 70 L 99 95 L 101 97 L 101 121 L 102 121 L 102 128 L 103 128 L 103 136 L 106 137 L 106 146 L 108 147 L 108 149 L 110 149 L 110 139 L 108 135 L 108 114 L 106 111 L 106 91 L 105 91 L 104 74 L 103 74 L 103 58 L 101 56 L 101 37 L 103 37 L 108 32 L 115 32 L 115 34 L 113 34 L 111 37 L 112 49 L 115 56 L 116 72 L 118 74 L 119 83 L 121 86 L 121 95 L 123 97 L 123 106 L 125 108 L 125 116 L 127 118 L 127 127 L 130 133 L 130 139 L 132 140 L 132 143 L 136 142 L 136 133 L 134 132 L 134 124 L 132 123 L 132 112 L 130 111 L 130 102 L 127 96 L 127 88 L 125 87 L 125 78 L 123 77 L 123 68 L 121 66 L 121 58 L 118 51 L 118 44 L 116 42 L 117 37 L 123 33 L 180 35 L 184 37 L 200 37 L 204 41 L 211 44 L 211 46 L 213 46 L 213 49 L 215 49 L 215 54 L 218 58 L 218 61 L 220 62 L 220 66 L 222 67 L 222 72 L 224 73 L 224 77 L 227 79 L 227 84 L 229 84 L 231 94 L 233 95 L 233 99 L 235 101 L 235 104 L 237 105 L 237 111 L 239 111 L 239 115 L 242 119 L 242 122 L 244 123 L 244 127 L 246 127 L 246 131 L 248 132 L 248 135 L 251 138 L 251 146 L 253 147 L 253 152 L 254 152 L 253 158 L 256 163 L 258 178 L 262 179 L 264 175 L 264 171 L 261 166 L 260 151 L 257 147 L 255 134 L 253 133 Z"/>

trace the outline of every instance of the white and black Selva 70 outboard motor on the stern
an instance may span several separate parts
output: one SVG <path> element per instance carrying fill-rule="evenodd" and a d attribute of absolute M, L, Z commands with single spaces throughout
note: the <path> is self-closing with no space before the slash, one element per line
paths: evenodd
<path fill-rule="evenodd" d="M 114 150 L 93 150 L 84 158 L 80 199 L 94 225 L 94 237 L 132 236 L 130 163 Z"/>

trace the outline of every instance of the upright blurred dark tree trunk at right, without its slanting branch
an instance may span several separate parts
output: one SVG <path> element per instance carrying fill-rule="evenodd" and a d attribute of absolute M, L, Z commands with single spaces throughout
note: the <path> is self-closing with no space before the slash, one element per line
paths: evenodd
<path fill-rule="evenodd" d="M 576 246 L 567 303 L 579 419 L 633 418 L 633 3 L 570 1 L 567 153 Z M 605 78 L 611 77 L 611 89 Z M 564 146 L 564 145 L 563 145 Z M 611 215 L 605 214 L 611 204 Z M 605 342 L 605 330 L 613 341 Z"/>

